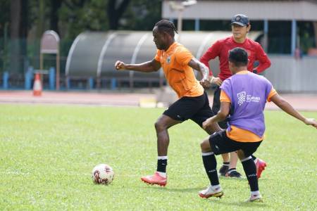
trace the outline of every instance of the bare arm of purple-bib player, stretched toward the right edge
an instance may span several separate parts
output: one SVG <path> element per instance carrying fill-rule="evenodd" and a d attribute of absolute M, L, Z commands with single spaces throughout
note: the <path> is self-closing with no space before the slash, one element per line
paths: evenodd
<path fill-rule="evenodd" d="M 293 117 L 297 118 L 298 120 L 301 120 L 305 124 L 316 127 L 317 129 L 317 122 L 315 119 L 306 118 L 300 113 L 298 113 L 297 110 L 295 110 L 293 106 L 290 105 L 290 103 L 288 103 L 287 101 L 285 101 L 285 99 L 283 99 L 280 95 L 275 94 L 274 96 L 271 97 L 271 101 L 275 103 L 276 106 L 280 107 L 280 109 L 288 113 L 289 115 L 292 115 Z"/>

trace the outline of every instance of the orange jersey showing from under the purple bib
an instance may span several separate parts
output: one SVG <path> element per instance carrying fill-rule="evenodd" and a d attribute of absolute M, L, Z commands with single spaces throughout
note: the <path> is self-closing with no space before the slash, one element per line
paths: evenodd
<path fill-rule="evenodd" d="M 237 74 L 247 74 L 247 71 L 241 71 L 237 72 Z M 267 101 L 271 101 L 271 97 L 277 94 L 275 89 L 271 89 L 270 94 L 268 94 Z M 228 97 L 227 94 L 225 94 L 225 91 L 220 92 L 220 102 L 228 102 L 231 103 L 230 98 Z M 256 142 L 256 141 L 262 141 L 264 139 L 264 136 L 260 137 L 254 134 L 253 132 L 250 132 L 246 129 L 241 129 L 239 127 L 235 127 L 234 125 L 230 125 L 231 130 L 228 132 L 227 130 L 227 136 L 228 138 L 235 140 L 235 141 L 240 141 L 240 142 Z"/>

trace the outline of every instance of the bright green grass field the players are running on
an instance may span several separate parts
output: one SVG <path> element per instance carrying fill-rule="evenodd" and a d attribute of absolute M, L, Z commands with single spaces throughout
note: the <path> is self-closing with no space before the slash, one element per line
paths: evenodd
<path fill-rule="evenodd" d="M 220 177 L 225 196 L 202 199 L 208 184 L 199 143 L 187 121 L 170 131 L 168 185 L 147 186 L 156 170 L 154 122 L 161 109 L 0 105 L 0 210 L 316 210 L 317 131 L 279 111 L 266 112 L 268 163 L 263 203 L 244 203 L 247 179 Z M 304 113 L 317 119 L 317 113 Z M 218 159 L 220 167 L 221 159 Z M 92 183 L 94 165 L 115 171 Z M 238 170 L 243 173 L 242 166 Z"/>

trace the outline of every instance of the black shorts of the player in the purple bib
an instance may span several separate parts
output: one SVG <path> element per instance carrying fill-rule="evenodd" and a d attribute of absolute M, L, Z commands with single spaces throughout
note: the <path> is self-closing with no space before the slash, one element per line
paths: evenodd
<path fill-rule="evenodd" d="M 242 150 L 245 157 L 252 155 L 260 146 L 262 141 L 257 142 L 240 142 L 229 139 L 225 130 L 216 132 L 209 136 L 209 143 L 213 153 L 220 155 L 223 153 L 231 153 L 237 150 Z"/>

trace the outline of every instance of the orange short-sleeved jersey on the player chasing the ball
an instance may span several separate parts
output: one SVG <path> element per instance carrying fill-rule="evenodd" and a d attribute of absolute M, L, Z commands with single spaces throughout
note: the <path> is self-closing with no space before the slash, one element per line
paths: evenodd
<path fill-rule="evenodd" d="M 201 96 L 204 88 L 197 81 L 188 63 L 194 58 L 182 44 L 174 42 L 167 51 L 158 50 L 155 60 L 161 63 L 164 75 L 178 97 Z"/>

